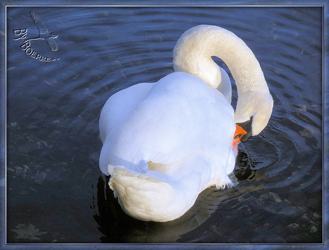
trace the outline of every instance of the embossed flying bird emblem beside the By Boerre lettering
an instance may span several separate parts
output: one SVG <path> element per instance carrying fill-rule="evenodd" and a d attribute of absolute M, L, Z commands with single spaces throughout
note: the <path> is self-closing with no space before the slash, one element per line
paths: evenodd
<path fill-rule="evenodd" d="M 58 49 L 58 47 L 57 47 L 57 44 L 56 44 L 54 38 L 57 38 L 58 36 L 54 33 L 48 32 L 47 27 L 44 25 L 44 23 L 42 22 L 40 16 L 36 12 L 31 10 L 30 15 L 31 15 L 34 23 L 36 24 L 40 34 L 39 34 L 38 37 L 25 39 L 24 42 L 27 42 L 27 41 L 30 41 L 30 40 L 42 39 L 42 40 L 45 40 L 48 43 L 51 50 L 56 51 Z"/>

